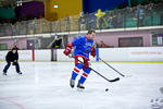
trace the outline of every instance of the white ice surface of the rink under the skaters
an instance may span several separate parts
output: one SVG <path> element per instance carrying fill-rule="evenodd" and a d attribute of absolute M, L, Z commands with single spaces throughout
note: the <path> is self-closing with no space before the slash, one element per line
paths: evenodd
<path fill-rule="evenodd" d="M 122 77 L 102 62 L 91 68 L 84 92 L 70 87 L 73 62 L 20 62 L 23 75 L 11 66 L 2 75 L 0 62 L 0 109 L 152 109 L 151 99 L 163 97 L 163 63 L 109 63 L 125 74 Z M 77 83 L 77 81 L 76 81 Z M 109 92 L 105 92 L 109 88 Z"/>

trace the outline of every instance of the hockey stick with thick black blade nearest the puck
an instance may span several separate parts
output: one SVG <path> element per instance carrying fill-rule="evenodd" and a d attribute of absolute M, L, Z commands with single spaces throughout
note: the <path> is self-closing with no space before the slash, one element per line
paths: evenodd
<path fill-rule="evenodd" d="M 77 58 L 75 58 L 75 57 L 73 57 L 73 56 L 72 56 L 72 58 L 76 59 L 78 62 L 80 62 L 82 64 L 86 65 L 86 63 L 82 62 L 82 61 L 78 60 Z M 109 78 L 106 78 L 105 76 L 103 76 L 102 74 L 100 74 L 98 71 L 93 70 L 92 68 L 90 68 L 90 66 L 87 66 L 87 68 L 90 69 L 91 71 L 93 71 L 95 73 L 97 73 L 98 75 L 100 75 L 102 78 L 104 78 L 104 80 L 108 81 L 108 82 L 111 82 L 111 83 L 112 83 L 112 82 L 120 81 L 120 77 L 116 77 L 116 78 L 114 78 L 114 80 L 109 80 Z"/>

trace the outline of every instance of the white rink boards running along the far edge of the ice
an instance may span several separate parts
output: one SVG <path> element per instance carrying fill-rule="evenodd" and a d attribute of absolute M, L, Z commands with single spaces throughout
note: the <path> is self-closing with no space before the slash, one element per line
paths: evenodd
<path fill-rule="evenodd" d="M 18 50 L 20 61 L 73 61 L 63 55 L 64 49 L 39 49 L 39 50 Z M 134 48 L 99 48 L 96 58 L 90 57 L 91 61 L 102 58 L 104 61 L 116 62 L 163 62 L 163 47 L 134 47 Z M 0 51 L 0 60 L 5 59 L 8 50 Z"/>

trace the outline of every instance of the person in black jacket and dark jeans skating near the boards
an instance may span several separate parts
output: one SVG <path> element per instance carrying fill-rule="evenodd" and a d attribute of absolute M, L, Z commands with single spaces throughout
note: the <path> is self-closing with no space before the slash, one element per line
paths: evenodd
<path fill-rule="evenodd" d="M 11 64 L 15 65 L 16 72 L 18 74 L 22 74 L 22 72 L 20 71 L 20 64 L 18 64 L 17 60 L 18 60 L 17 48 L 12 48 L 12 50 L 9 51 L 8 55 L 5 56 L 7 65 L 3 69 L 4 75 L 7 75 L 7 71 Z"/>

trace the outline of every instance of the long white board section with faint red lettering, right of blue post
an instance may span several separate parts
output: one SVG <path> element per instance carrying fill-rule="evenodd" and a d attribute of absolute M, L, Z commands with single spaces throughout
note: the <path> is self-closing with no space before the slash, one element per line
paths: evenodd
<path fill-rule="evenodd" d="M 163 61 L 163 47 L 100 48 L 105 61 Z"/>

